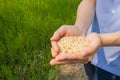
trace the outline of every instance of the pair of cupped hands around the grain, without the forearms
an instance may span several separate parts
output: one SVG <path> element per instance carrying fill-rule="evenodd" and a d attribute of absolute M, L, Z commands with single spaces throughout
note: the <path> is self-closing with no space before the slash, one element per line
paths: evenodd
<path fill-rule="evenodd" d="M 50 61 L 51 65 L 66 64 L 66 63 L 83 63 L 86 64 L 91 61 L 94 54 L 101 47 L 101 38 L 97 33 L 91 33 L 85 36 L 85 41 L 89 44 L 80 52 L 60 54 L 60 48 L 57 42 L 64 36 L 85 36 L 82 29 L 74 25 L 63 25 L 56 30 L 51 37 L 51 53 L 53 59 Z"/>

